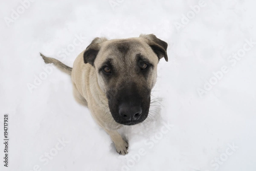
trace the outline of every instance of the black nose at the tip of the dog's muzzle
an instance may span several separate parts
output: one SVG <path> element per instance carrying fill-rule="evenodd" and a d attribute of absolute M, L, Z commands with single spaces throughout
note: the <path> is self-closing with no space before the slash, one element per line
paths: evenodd
<path fill-rule="evenodd" d="M 121 104 L 119 107 L 119 115 L 125 121 L 136 121 L 140 118 L 142 109 L 140 106 L 130 106 Z"/>

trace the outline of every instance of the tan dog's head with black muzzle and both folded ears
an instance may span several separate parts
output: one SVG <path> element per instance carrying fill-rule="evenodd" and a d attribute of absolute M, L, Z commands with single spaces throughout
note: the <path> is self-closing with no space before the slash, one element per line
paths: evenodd
<path fill-rule="evenodd" d="M 139 38 L 95 38 L 84 52 L 84 63 L 95 67 L 99 87 L 106 94 L 113 119 L 119 124 L 143 122 L 160 58 L 168 60 L 167 43 L 154 35 Z"/>

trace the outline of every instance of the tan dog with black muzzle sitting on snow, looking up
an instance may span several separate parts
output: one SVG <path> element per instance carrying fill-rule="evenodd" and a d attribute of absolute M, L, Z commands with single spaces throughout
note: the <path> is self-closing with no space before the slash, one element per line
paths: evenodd
<path fill-rule="evenodd" d="M 73 68 L 41 54 L 71 75 L 75 99 L 87 106 L 95 121 L 111 136 L 116 151 L 128 153 L 118 133 L 123 125 L 143 122 L 149 112 L 157 64 L 168 61 L 167 46 L 153 34 L 138 38 L 95 38 L 74 61 Z"/>

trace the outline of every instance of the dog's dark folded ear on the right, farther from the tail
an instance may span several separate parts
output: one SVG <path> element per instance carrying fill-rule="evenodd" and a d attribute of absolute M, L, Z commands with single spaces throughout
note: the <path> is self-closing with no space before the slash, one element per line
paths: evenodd
<path fill-rule="evenodd" d="M 155 54 L 157 54 L 159 60 L 161 58 L 164 58 L 166 61 L 168 61 L 168 56 L 166 52 L 168 44 L 165 41 L 162 41 L 153 34 L 140 35 L 140 38 L 145 38 L 147 40 L 148 45 L 155 52 Z"/>

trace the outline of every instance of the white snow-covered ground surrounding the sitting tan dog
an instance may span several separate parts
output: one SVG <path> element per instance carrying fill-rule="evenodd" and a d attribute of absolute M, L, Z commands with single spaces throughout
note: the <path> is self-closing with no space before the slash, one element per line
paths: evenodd
<path fill-rule="evenodd" d="M 255 1 L 34 0 L 26 9 L 24 1 L 0 3 L 0 137 L 8 113 L 10 139 L 8 168 L 0 140 L 0 171 L 256 170 L 256 44 L 248 43 L 256 42 Z M 163 107 L 121 130 L 129 154 L 119 156 L 74 100 L 70 77 L 39 52 L 72 66 L 95 37 L 141 33 L 169 44 L 153 92 Z M 30 92 L 37 77 L 45 79 Z"/>

